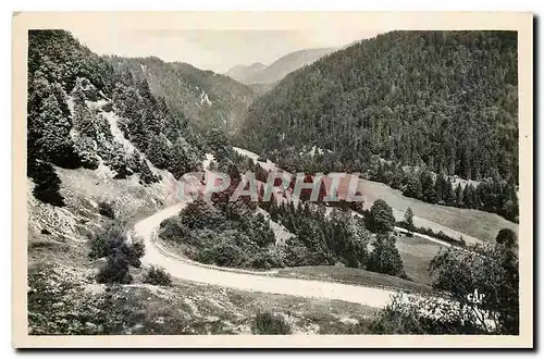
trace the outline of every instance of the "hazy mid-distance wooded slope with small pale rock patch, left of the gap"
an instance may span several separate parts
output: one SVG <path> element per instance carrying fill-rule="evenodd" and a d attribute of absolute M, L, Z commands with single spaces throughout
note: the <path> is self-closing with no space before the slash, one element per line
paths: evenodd
<path fill-rule="evenodd" d="M 200 132 L 211 127 L 233 129 L 255 98 L 248 86 L 187 63 L 158 58 L 106 59 L 116 71 L 128 71 L 136 79 L 147 81 L 151 92 L 164 98 L 172 114 L 186 117 Z"/>

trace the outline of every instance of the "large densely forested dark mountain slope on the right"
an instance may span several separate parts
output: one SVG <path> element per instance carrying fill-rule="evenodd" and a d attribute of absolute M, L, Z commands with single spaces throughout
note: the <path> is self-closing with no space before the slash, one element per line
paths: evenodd
<path fill-rule="evenodd" d="M 517 182 L 517 84 L 516 33 L 393 32 L 286 76 L 242 137 L 265 152 L 318 146 L 356 168 L 379 154 Z"/>

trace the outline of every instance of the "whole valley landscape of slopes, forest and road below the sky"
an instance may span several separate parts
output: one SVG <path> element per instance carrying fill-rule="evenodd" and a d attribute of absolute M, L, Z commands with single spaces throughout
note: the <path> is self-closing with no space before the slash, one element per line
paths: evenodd
<path fill-rule="evenodd" d="M 438 35 L 222 75 L 29 32 L 28 332 L 515 333 L 511 34 Z M 222 190 L 200 177 L 214 172 Z M 357 173 L 363 201 L 324 200 L 325 185 L 311 201 L 295 181 L 264 200 L 275 172 Z M 251 175 L 255 198 L 231 200 Z M 470 311 L 474 285 L 493 331 Z"/>

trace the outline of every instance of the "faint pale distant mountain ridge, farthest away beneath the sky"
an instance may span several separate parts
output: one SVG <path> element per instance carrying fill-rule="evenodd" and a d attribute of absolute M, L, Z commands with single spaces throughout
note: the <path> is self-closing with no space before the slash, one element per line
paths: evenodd
<path fill-rule="evenodd" d="M 247 85 L 272 85 L 284 78 L 288 73 L 311 64 L 334 50 L 333 48 L 299 50 L 277 59 L 268 66 L 260 63 L 236 65 L 228 70 L 225 75 Z"/>

